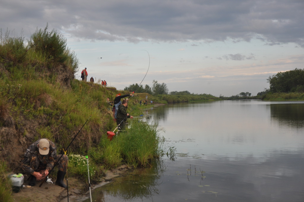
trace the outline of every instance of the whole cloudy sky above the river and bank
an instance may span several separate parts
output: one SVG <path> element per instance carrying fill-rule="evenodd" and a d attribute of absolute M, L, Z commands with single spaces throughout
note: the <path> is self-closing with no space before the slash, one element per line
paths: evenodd
<path fill-rule="evenodd" d="M 80 71 L 123 89 L 165 83 L 214 96 L 258 92 L 304 68 L 303 0 L 0 0 L 2 33 L 57 30 Z M 102 57 L 102 59 L 101 59 Z M 149 68 L 149 69 L 148 69 Z"/>

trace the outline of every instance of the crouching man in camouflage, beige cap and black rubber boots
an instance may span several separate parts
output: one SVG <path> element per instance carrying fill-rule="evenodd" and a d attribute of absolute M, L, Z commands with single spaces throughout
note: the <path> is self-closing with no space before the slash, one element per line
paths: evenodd
<path fill-rule="evenodd" d="M 40 181 L 45 179 L 49 174 L 50 170 L 58 165 L 58 173 L 56 183 L 57 185 L 67 188 L 63 183 L 65 173 L 67 172 L 67 155 L 57 155 L 56 145 L 54 142 L 47 138 L 37 140 L 33 144 L 29 145 L 26 152 L 21 160 L 21 168 L 23 171 L 31 175 L 30 186 L 36 185 L 36 180 Z M 58 163 L 55 165 L 57 160 L 60 158 Z"/>

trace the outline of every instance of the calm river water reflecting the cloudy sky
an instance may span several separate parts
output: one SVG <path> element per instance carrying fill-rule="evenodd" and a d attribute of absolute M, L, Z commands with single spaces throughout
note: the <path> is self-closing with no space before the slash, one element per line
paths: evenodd
<path fill-rule="evenodd" d="M 174 161 L 117 178 L 92 201 L 304 201 L 304 102 L 181 103 L 140 118 L 165 129 Z"/>

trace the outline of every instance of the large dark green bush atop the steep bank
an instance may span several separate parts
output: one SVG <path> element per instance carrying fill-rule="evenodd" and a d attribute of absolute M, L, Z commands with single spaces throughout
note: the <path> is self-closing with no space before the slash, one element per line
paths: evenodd
<path fill-rule="evenodd" d="M 29 40 L 29 48 L 33 48 L 37 52 L 41 52 L 47 59 L 53 62 L 64 62 L 67 60 L 66 50 L 67 40 L 55 30 L 47 31 L 40 29 L 31 36 Z"/>

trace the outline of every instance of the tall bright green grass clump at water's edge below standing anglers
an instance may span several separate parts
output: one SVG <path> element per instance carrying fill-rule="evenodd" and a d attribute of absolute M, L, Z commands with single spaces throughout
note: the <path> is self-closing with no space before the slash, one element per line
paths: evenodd
<path fill-rule="evenodd" d="M 91 153 L 94 159 L 106 168 L 114 168 L 126 163 L 133 167 L 149 167 L 153 159 L 161 154 L 157 124 L 133 121 L 124 133 L 119 133 L 112 141 L 102 138 L 98 153 Z"/>

